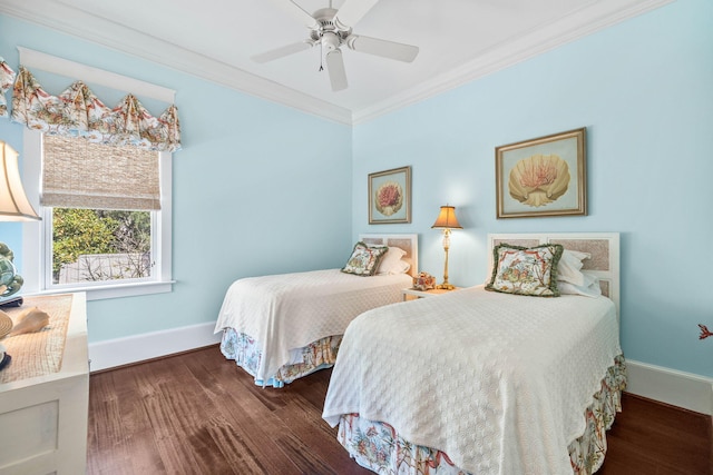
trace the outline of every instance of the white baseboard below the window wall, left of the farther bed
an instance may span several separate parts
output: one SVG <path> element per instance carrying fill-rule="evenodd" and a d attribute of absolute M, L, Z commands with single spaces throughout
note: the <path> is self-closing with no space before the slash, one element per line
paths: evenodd
<path fill-rule="evenodd" d="M 89 369 L 98 372 L 221 342 L 215 321 L 89 344 Z"/>

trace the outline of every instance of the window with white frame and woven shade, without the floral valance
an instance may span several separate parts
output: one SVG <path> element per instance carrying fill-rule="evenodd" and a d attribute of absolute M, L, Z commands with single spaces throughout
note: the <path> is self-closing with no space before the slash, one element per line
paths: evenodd
<path fill-rule="evenodd" d="M 23 247 L 38 249 L 38 253 L 23 255 L 26 291 L 81 290 L 92 300 L 172 290 L 172 154 L 145 151 L 130 146 L 110 149 L 114 155 L 108 159 L 113 165 L 101 165 L 102 171 L 97 174 L 94 184 L 102 190 L 109 189 L 107 182 L 100 181 L 117 178 L 119 172 L 116 168 L 121 168 L 120 159 L 136 159 L 137 154 L 143 155 L 144 159 L 157 165 L 155 185 L 158 202 L 152 206 L 160 209 L 133 209 L 141 206 L 131 200 L 138 200 L 146 207 L 146 201 L 153 199 L 148 197 L 152 195 L 150 190 L 128 195 L 114 192 L 108 198 L 118 200 L 119 206 L 116 206 L 101 201 L 107 197 L 89 189 L 89 196 L 85 198 L 90 207 L 77 206 L 78 201 L 75 200 L 80 198 L 75 195 L 82 188 L 72 186 L 72 194 L 67 192 L 69 187 L 66 185 L 77 181 L 78 177 L 76 171 L 70 171 L 71 167 L 68 167 L 66 159 L 78 158 L 84 161 L 86 157 L 82 156 L 87 154 L 99 154 L 100 158 L 106 159 L 107 150 L 84 138 L 46 136 L 26 130 L 26 190 L 28 196 L 38 196 L 41 184 L 45 194 L 41 205 L 33 204 L 42 220 L 28 225 L 25 232 Z M 70 154 L 64 154 L 65 151 Z M 62 172 L 70 174 L 71 177 L 60 178 L 58 185 L 52 187 L 45 177 L 48 161 L 51 166 L 52 160 L 58 157 L 62 161 Z M 139 170 L 140 178 L 145 178 L 146 170 L 140 167 Z M 136 191 L 136 184 L 130 185 L 131 179 L 129 177 L 129 184 L 120 181 L 119 190 Z M 146 180 L 141 179 L 141 182 L 145 185 Z M 51 206 L 52 204 L 61 205 Z M 36 228 L 36 232 L 29 231 L 29 226 Z M 39 283 L 38 288 L 33 288 L 35 283 Z"/>

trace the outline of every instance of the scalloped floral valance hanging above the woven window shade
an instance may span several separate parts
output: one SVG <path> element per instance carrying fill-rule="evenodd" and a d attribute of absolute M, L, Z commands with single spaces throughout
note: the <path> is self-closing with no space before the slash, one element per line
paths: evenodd
<path fill-rule="evenodd" d="M 111 146 L 136 146 L 146 150 L 180 150 L 178 109 L 170 106 L 153 117 L 133 95 L 114 109 L 106 107 L 81 81 L 59 96 L 47 93 L 25 67 L 14 81 L 12 120 L 64 137 L 86 137 Z"/>

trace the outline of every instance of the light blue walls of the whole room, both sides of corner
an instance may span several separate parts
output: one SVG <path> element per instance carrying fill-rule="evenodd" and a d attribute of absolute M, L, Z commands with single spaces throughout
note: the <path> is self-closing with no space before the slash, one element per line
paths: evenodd
<path fill-rule="evenodd" d="M 713 325 L 711 24 L 713 2 L 678 0 L 353 130 L 3 16 L 0 56 L 17 68 L 23 46 L 178 91 L 178 284 L 89 303 L 92 343 L 211 321 L 235 278 L 340 266 L 358 232 L 419 232 L 421 269 L 440 277 L 430 226 L 448 202 L 466 228 L 452 237 L 458 285 L 485 280 L 487 232 L 622 232 L 626 356 L 713 376 L 713 342 L 697 339 Z M 578 127 L 589 215 L 497 220 L 495 147 Z M 20 126 L 0 119 L 0 139 L 22 151 Z M 412 224 L 369 226 L 367 175 L 406 165 Z M 21 225 L 0 225 L 0 240 L 20 249 Z"/>

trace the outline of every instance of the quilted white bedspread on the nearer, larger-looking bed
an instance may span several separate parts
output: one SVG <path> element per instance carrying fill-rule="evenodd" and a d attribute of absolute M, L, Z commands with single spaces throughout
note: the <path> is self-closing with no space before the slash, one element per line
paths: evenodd
<path fill-rule="evenodd" d="M 608 298 L 472 287 L 354 319 L 323 417 L 385 422 L 473 474 L 570 475 L 567 446 L 621 353 Z"/>

